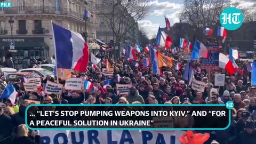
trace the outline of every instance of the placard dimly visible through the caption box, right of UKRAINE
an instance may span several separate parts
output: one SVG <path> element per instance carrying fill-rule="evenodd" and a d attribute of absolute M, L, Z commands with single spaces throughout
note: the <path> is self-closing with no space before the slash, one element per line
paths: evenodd
<path fill-rule="evenodd" d="M 158 116 L 153 117 L 155 128 L 174 128 L 173 117 Z"/>

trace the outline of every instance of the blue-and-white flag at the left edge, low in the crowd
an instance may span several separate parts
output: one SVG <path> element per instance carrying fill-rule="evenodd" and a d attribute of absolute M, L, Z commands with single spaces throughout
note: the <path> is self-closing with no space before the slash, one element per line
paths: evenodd
<path fill-rule="evenodd" d="M 14 106 L 15 99 L 18 97 L 18 95 L 19 93 L 15 90 L 12 83 L 8 83 L 0 98 L 9 99 L 12 102 L 12 105 Z"/>

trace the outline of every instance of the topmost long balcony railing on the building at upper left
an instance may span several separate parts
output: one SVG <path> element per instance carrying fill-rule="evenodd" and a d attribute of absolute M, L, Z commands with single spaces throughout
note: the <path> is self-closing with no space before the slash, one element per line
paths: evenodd
<path fill-rule="evenodd" d="M 52 6 L 25 6 L 25 7 L 3 7 L 0 14 L 60 14 L 70 15 L 78 19 L 84 19 L 84 13 L 75 12 L 65 7 L 52 7 Z"/>

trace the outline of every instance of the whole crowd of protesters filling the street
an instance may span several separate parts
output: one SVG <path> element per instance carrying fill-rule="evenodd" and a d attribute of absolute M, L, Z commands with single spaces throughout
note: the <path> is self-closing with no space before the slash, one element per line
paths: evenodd
<path fill-rule="evenodd" d="M 161 50 L 160 50 L 161 51 Z M 185 63 L 179 52 L 171 53 L 162 51 L 165 55 L 173 57 L 174 65 L 181 64 L 180 69 L 174 67 L 162 68 L 162 75 L 152 74 L 151 67 L 143 67 L 142 60 L 149 58 L 148 52 L 138 53 L 138 63 L 140 67 L 134 66 L 134 61 L 125 60 L 121 57 L 118 61 L 108 59 L 111 68 L 114 69 L 113 76 L 104 76 L 102 68 L 106 68 L 105 60 L 107 54 L 97 54 L 96 57 L 102 61 L 97 68 L 88 67 L 85 73 L 72 72 L 73 77 L 83 77 L 91 81 L 97 89 L 94 91 L 66 91 L 63 87 L 62 95 L 46 95 L 40 90 L 37 92 L 23 92 L 21 79 L 17 79 L 13 85 L 19 97 L 15 105 L 10 100 L 2 99 L 0 108 L 0 143 L 40 143 L 39 132 L 30 131 L 25 124 L 25 109 L 28 105 L 34 104 L 26 100 L 41 101 L 44 104 L 223 104 L 228 101 L 234 102 L 232 109 L 231 124 L 222 131 L 197 131 L 199 133 L 208 132 L 211 137 L 208 142 L 218 141 L 223 144 L 251 144 L 256 143 L 255 122 L 256 118 L 256 87 L 250 85 L 251 72 L 247 70 L 248 62 L 236 60 L 239 69 L 237 73 L 228 75 L 225 70 L 219 69 L 208 73 L 200 68 L 200 61 L 191 61 L 191 66 L 195 70 L 194 77 L 197 81 L 205 82 L 204 92 L 191 89 L 188 81 L 183 79 Z M 224 86 L 214 86 L 214 74 L 226 74 Z M 120 81 L 118 82 L 117 79 Z M 101 85 L 102 81 L 111 79 L 106 89 Z M 8 80 L 1 75 L 0 90 L 3 91 Z M 57 82 L 56 79 L 47 75 L 42 79 Z M 59 83 L 65 81 L 59 79 Z M 116 83 L 132 84 L 129 94 L 119 94 L 116 91 Z M 107 107 L 106 107 L 107 108 Z M 67 107 L 67 109 L 69 109 Z M 31 112 L 31 111 L 30 111 Z M 31 112 L 33 113 L 33 111 Z M 207 123 L 207 121 L 202 122 Z M 194 127 L 194 119 L 180 118 L 177 121 L 179 127 Z"/>

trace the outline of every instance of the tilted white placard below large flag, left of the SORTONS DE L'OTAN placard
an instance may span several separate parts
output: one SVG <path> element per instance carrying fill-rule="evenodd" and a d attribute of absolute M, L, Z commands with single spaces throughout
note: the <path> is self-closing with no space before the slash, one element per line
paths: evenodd
<path fill-rule="evenodd" d="M 62 84 L 53 83 L 51 81 L 47 81 L 45 85 L 44 92 L 47 94 L 61 94 L 62 93 Z"/>

